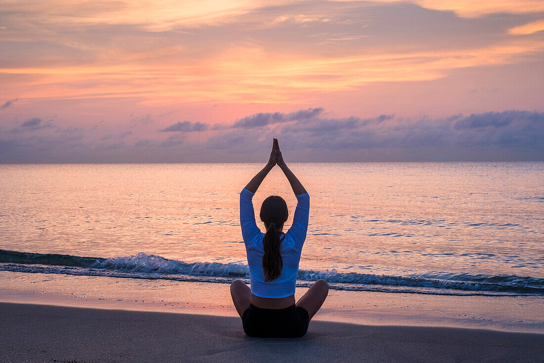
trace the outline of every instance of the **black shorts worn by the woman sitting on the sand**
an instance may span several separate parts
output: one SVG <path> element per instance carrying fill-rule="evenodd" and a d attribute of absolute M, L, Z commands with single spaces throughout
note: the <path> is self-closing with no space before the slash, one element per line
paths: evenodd
<path fill-rule="evenodd" d="M 244 332 L 260 338 L 298 338 L 310 324 L 305 308 L 292 305 L 285 309 L 263 309 L 253 304 L 242 314 Z"/>

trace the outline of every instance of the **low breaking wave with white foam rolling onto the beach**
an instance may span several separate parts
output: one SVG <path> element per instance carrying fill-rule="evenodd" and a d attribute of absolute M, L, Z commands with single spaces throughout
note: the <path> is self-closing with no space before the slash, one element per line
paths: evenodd
<path fill-rule="evenodd" d="M 183 262 L 143 252 L 126 257 L 81 257 L 54 253 L 0 250 L 0 270 L 85 276 L 129 277 L 177 281 L 249 280 L 242 263 Z M 473 275 L 432 272 L 406 276 L 339 273 L 336 269 L 299 270 L 297 286 L 323 279 L 332 289 L 442 295 L 544 296 L 544 279 L 516 275 Z"/>

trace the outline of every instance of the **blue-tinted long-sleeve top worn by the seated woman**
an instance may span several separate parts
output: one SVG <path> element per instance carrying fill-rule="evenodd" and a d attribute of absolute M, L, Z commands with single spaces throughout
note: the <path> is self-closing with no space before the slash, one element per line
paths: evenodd
<path fill-rule="evenodd" d="M 295 293 L 296 275 L 299 271 L 300 252 L 308 230 L 310 215 L 310 195 L 296 196 L 296 208 L 293 224 L 281 241 L 280 253 L 283 268 L 280 277 L 264 282 L 263 273 L 263 237 L 264 233 L 257 227 L 252 198 L 255 193 L 247 189 L 240 192 L 240 226 L 248 255 L 251 293 L 262 298 L 285 298 Z"/>

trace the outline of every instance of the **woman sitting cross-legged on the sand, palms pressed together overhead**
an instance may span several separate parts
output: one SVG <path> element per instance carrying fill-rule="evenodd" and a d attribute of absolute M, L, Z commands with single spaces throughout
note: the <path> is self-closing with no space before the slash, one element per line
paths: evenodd
<path fill-rule="evenodd" d="M 266 233 L 255 222 L 252 197 L 270 170 L 278 165 L 295 193 L 297 204 L 293 224 L 283 233 L 287 204 L 270 196 L 261 206 L 261 221 Z M 295 282 L 300 252 L 306 239 L 310 196 L 289 170 L 277 139 L 274 139 L 268 164 L 240 193 L 240 226 L 248 254 L 251 289 L 242 280 L 231 284 L 234 306 L 242 318 L 245 334 L 256 337 L 301 337 L 310 319 L 323 305 L 329 284 L 318 280 L 295 304 Z"/>

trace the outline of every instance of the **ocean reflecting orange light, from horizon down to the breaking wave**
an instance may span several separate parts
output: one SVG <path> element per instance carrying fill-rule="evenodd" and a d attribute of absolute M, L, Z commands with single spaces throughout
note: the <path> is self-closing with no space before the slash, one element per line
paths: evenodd
<path fill-rule="evenodd" d="M 262 164 L 0 165 L 0 270 L 231 282 Z M 289 164 L 310 193 L 297 285 L 544 296 L 544 163 Z M 254 197 L 296 199 L 275 168 Z M 258 225 L 264 226 L 258 221 Z"/>

